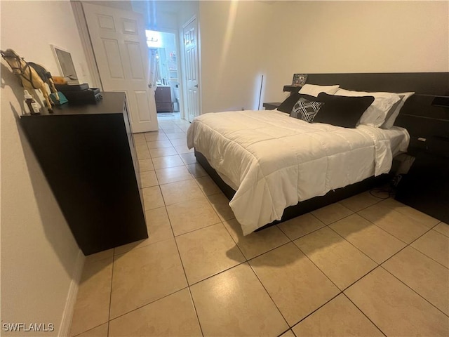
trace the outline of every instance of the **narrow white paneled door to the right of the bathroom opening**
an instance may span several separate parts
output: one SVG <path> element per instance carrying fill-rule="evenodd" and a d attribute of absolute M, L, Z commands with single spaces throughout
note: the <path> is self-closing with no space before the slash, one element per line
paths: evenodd
<path fill-rule="evenodd" d="M 199 116 L 198 44 L 196 18 L 183 27 L 187 79 L 187 110 L 189 121 Z"/>

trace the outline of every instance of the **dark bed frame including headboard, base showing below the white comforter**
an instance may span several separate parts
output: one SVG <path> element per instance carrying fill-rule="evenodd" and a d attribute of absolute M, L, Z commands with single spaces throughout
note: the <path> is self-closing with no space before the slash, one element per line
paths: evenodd
<path fill-rule="evenodd" d="M 420 73 L 368 73 L 368 74 L 308 74 L 308 84 L 332 85 L 340 84 L 341 88 L 356 91 L 414 91 L 401 110 L 395 125 L 402 126 L 410 133 L 410 147 L 422 146 L 418 138 L 431 136 L 449 136 L 449 110 L 438 106 L 441 101 L 447 104 L 449 99 L 449 72 Z M 444 103 L 443 103 L 444 104 Z M 231 200 L 235 191 L 229 187 L 210 166 L 206 157 L 195 150 L 196 160 L 203 166 L 220 190 Z M 395 163 L 394 163 L 395 164 Z M 331 190 L 326 195 L 300 201 L 295 206 L 287 207 L 281 220 L 264 225 L 257 230 L 295 218 L 304 213 L 333 204 L 355 194 L 370 190 L 391 180 L 395 167 L 390 173 L 370 177 L 359 183 Z"/>

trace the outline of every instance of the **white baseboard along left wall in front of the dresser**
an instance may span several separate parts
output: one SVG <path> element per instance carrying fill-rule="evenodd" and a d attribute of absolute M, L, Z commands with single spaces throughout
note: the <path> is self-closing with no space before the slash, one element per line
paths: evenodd
<path fill-rule="evenodd" d="M 72 317 L 75 308 L 76 295 L 78 295 L 79 281 L 84 267 L 84 257 L 81 249 L 76 257 L 75 267 L 72 273 L 72 282 L 70 282 L 69 293 L 67 293 L 67 299 L 65 300 L 64 312 L 62 312 L 62 319 L 58 336 L 67 337 L 70 333 L 70 326 L 72 325 Z"/>

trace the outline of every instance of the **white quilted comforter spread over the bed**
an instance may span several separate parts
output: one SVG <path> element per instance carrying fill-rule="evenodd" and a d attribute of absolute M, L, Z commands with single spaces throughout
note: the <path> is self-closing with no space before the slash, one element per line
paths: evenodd
<path fill-rule="evenodd" d="M 229 206 L 245 235 L 298 201 L 387 173 L 392 161 L 380 128 L 309 124 L 276 110 L 203 114 L 187 145 L 236 190 Z"/>

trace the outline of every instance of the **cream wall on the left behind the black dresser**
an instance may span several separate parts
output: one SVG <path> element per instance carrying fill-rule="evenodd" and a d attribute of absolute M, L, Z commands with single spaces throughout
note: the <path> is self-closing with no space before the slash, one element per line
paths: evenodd
<path fill-rule="evenodd" d="M 0 6 L 2 50 L 13 48 L 58 74 L 50 47 L 55 44 L 72 53 L 81 81 L 89 81 L 69 1 Z M 71 319 L 65 306 L 74 300 L 72 280 L 83 256 L 20 128 L 22 100 L 23 88 L 1 60 L 1 322 L 53 323 L 52 333 L 12 335 L 55 336 L 67 332 L 61 321 L 64 313 Z"/>

